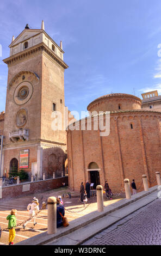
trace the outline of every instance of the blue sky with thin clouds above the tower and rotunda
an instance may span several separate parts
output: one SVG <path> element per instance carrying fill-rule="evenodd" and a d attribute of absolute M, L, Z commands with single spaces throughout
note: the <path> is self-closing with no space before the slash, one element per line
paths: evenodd
<path fill-rule="evenodd" d="M 109 93 L 161 94 L 160 0 L 3 0 L 0 4 L 0 111 L 5 110 L 8 46 L 26 24 L 63 41 L 65 105 L 86 111 Z M 160 44 L 160 46 L 159 46 Z M 0 48 L 1 52 L 1 48 Z M 161 52 L 161 51 L 160 51 Z"/>

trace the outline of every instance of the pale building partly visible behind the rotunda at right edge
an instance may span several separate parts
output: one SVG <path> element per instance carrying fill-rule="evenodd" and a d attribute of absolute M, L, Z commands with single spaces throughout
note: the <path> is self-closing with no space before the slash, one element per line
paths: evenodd
<path fill-rule="evenodd" d="M 143 93 L 143 100 L 141 102 L 141 108 L 147 110 L 161 111 L 161 95 L 158 95 L 158 91 Z"/>

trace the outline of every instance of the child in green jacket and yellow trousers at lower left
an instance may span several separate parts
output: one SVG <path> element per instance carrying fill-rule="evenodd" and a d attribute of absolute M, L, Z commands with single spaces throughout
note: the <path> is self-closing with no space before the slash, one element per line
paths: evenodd
<path fill-rule="evenodd" d="M 15 232 L 15 226 L 16 226 L 16 214 L 17 214 L 17 210 L 13 209 L 11 210 L 10 215 L 7 216 L 7 220 L 8 222 L 8 229 L 9 229 L 9 245 L 13 245 L 13 241 L 16 235 Z"/>

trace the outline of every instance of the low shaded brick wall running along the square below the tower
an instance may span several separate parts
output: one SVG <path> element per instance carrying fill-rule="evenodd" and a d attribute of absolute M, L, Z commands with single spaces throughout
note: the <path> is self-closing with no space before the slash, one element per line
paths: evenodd
<path fill-rule="evenodd" d="M 58 188 L 62 186 L 62 183 L 68 184 L 68 177 L 61 177 L 55 179 L 41 180 L 35 182 L 25 182 L 19 185 L 2 187 L 2 199 L 0 199 L 0 203 L 3 200 L 10 200 L 11 198 L 28 196 L 29 194 L 40 193 L 43 191 L 53 190 L 54 188 Z M 30 185 L 30 190 L 23 192 L 24 185 Z"/>

